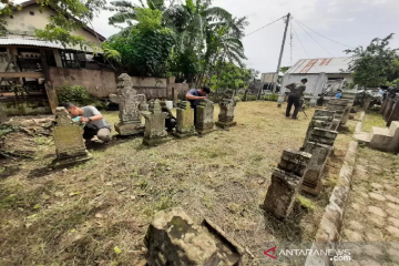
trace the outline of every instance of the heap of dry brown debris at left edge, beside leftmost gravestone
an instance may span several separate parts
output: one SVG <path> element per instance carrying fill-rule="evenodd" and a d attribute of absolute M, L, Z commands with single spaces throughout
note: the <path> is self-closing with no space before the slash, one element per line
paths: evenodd
<path fill-rule="evenodd" d="M 0 158 L 34 156 L 38 137 L 50 137 L 52 115 L 11 117 L 0 125 Z"/>

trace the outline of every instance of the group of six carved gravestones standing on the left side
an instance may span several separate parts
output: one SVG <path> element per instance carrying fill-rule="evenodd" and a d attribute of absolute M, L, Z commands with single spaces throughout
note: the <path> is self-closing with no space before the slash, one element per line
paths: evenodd
<path fill-rule="evenodd" d="M 117 78 L 117 94 L 110 95 L 111 102 L 120 106 L 120 122 L 115 130 L 120 135 L 129 136 L 143 134 L 143 144 L 158 145 L 171 140 L 165 130 L 167 113 L 162 112 L 161 102 L 155 100 L 146 103 L 144 94 L 137 94 L 127 74 Z M 219 103 L 221 113 L 218 121 L 214 122 L 214 104 L 212 101 L 203 100 L 196 108 L 196 123 L 194 124 L 194 110 L 188 102 L 181 102 L 176 115 L 176 129 L 173 135 L 187 137 L 195 134 L 207 134 L 214 131 L 215 124 L 222 129 L 235 126 L 234 110 L 236 102 L 232 98 L 224 99 Z M 145 117 L 145 125 L 142 124 Z M 64 108 L 55 111 L 54 142 L 57 146 L 57 160 L 54 166 L 64 167 L 73 162 L 82 162 L 91 158 L 85 150 L 82 137 L 82 129 L 74 124 Z"/>

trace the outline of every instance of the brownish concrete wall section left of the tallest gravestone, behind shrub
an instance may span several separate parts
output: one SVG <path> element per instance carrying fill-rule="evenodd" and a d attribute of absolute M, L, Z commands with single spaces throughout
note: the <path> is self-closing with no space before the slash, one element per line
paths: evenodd
<path fill-rule="evenodd" d="M 50 80 L 54 88 L 63 85 L 82 85 L 96 98 L 108 98 L 116 93 L 116 78 L 113 71 L 50 68 Z"/>

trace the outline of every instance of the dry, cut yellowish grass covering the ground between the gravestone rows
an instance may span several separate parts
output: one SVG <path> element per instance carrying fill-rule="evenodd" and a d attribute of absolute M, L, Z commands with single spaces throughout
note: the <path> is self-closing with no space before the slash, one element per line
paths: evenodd
<path fill-rule="evenodd" d="M 309 123 L 284 111 L 272 102 L 238 103 L 229 131 L 151 149 L 141 137 L 117 139 L 66 171 L 47 168 L 55 149 L 35 139 L 35 160 L 1 165 L 0 265 L 137 265 L 154 213 L 174 206 L 197 223 L 214 221 L 254 263 L 266 242 L 311 242 L 331 187 L 318 198 L 299 197 L 304 208 L 284 222 L 259 208 L 283 150 L 299 149 Z M 117 112 L 104 115 L 119 121 Z M 338 175 L 349 141 L 338 136 L 326 177 Z M 245 256 L 244 265 L 250 260 Z"/>

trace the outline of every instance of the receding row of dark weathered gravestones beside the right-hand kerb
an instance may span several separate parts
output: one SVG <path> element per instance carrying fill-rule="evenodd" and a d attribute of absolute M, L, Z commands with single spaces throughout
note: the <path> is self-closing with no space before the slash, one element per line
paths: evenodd
<path fill-rule="evenodd" d="M 334 99 L 327 110 L 316 110 L 300 151 L 285 150 L 272 174 L 264 209 L 277 218 L 287 218 L 300 191 L 318 196 L 323 172 L 334 151 L 338 129 L 345 130 L 354 99 Z"/>

